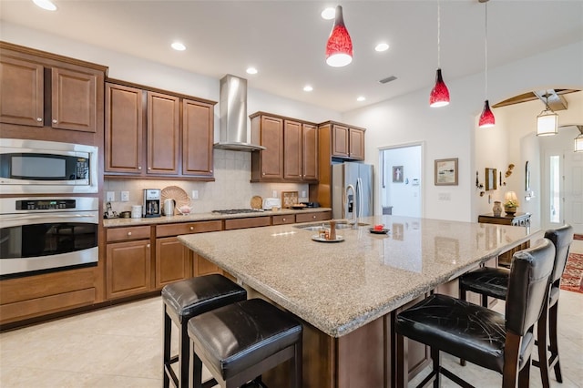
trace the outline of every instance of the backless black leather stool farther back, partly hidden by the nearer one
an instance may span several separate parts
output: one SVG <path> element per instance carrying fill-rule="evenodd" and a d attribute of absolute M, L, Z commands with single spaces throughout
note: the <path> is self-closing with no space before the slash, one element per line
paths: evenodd
<path fill-rule="evenodd" d="M 164 388 L 169 380 L 179 387 L 189 386 L 189 319 L 203 312 L 247 299 L 247 291 L 226 277 L 213 274 L 177 281 L 162 289 L 164 301 Z M 179 353 L 170 355 L 172 322 L 179 327 Z M 174 373 L 171 365 L 179 362 L 179 373 Z"/>

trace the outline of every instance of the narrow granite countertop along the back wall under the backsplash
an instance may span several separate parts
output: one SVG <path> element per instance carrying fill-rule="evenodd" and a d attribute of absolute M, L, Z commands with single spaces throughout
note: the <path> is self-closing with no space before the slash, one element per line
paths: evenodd
<path fill-rule="evenodd" d="M 245 219 L 249 217 L 264 217 L 264 216 L 283 216 L 285 214 L 300 214 L 313 213 L 320 211 L 329 211 L 330 208 L 305 208 L 305 209 L 279 209 L 277 211 L 263 210 L 252 213 L 237 213 L 237 214 L 219 214 L 219 213 L 191 213 L 187 216 L 161 216 L 141 219 L 105 219 L 103 226 L 106 228 L 115 228 L 122 226 L 141 226 L 152 224 L 169 224 L 176 222 L 196 222 L 207 220 L 229 220 L 229 219 Z"/>

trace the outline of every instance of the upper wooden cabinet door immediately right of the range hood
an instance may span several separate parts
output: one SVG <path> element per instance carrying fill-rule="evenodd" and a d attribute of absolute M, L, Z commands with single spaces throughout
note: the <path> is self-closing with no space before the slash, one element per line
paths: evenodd
<path fill-rule="evenodd" d="M 261 116 L 261 179 L 283 177 L 283 120 Z"/>

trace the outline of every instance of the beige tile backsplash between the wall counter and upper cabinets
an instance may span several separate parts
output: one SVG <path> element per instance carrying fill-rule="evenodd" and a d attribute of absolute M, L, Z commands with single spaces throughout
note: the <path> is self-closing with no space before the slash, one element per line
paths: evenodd
<path fill-rule="evenodd" d="M 132 205 L 141 205 L 143 189 L 164 189 L 169 186 L 178 186 L 186 191 L 195 213 L 207 213 L 216 209 L 248 209 L 251 208 L 253 196 L 272 197 L 274 190 L 280 199 L 281 191 L 298 191 L 300 201 L 307 200 L 302 198 L 302 192 L 307 197 L 307 184 L 251 183 L 251 152 L 215 149 L 214 177 L 214 182 L 106 179 L 103 188 L 104 201 L 107 202 L 107 191 L 113 191 L 115 200 L 111 202 L 112 209 L 117 212 L 131 210 Z M 199 199 L 192 199 L 193 190 L 198 191 Z M 128 201 L 120 200 L 122 191 L 128 191 Z"/>

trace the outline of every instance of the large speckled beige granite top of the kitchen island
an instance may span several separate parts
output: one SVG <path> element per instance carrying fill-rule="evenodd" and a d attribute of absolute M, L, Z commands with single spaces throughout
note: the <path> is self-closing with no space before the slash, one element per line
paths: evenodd
<path fill-rule="evenodd" d="M 179 236 L 179 240 L 305 322 L 341 337 L 542 232 L 397 216 L 312 240 L 294 225 Z M 389 234 L 369 232 L 383 223 Z"/>

